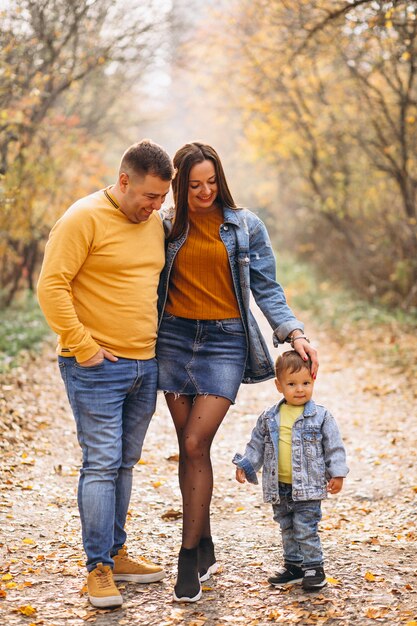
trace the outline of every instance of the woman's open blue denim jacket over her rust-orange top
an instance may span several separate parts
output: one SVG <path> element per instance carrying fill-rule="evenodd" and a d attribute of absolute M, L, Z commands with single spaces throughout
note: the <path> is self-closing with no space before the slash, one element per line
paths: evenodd
<path fill-rule="evenodd" d="M 172 228 L 173 209 L 160 212 L 165 231 Z M 250 294 L 273 328 L 274 345 L 283 343 L 291 331 L 304 330 L 287 305 L 284 291 L 275 279 L 276 261 L 264 223 L 248 209 L 223 208 L 220 238 L 229 257 L 233 285 L 245 327 L 248 352 L 242 382 L 256 383 L 274 377 L 274 366 L 258 324 L 249 310 Z M 178 250 L 187 232 L 167 245 L 165 268 L 158 291 L 160 320 L 168 295 L 169 277 Z"/>

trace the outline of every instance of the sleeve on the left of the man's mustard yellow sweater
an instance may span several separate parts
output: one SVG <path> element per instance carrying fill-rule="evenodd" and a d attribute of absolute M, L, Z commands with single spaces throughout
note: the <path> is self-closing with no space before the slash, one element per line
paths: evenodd
<path fill-rule="evenodd" d="M 71 281 L 93 245 L 95 224 L 89 211 L 71 207 L 53 227 L 45 248 L 38 281 L 38 300 L 46 321 L 60 335 L 78 362 L 86 361 L 100 346 L 78 319 Z"/>

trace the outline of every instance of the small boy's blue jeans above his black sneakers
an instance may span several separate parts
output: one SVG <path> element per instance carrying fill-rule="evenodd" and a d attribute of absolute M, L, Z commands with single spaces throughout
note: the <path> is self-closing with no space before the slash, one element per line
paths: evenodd
<path fill-rule="evenodd" d="M 279 483 L 279 504 L 273 504 L 274 520 L 279 523 L 285 563 L 303 569 L 323 565 L 318 536 L 321 500 L 292 499 L 292 485 Z"/>

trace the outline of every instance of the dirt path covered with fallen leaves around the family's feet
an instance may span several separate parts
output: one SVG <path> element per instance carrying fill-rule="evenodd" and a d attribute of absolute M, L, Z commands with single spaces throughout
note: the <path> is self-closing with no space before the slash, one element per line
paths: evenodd
<path fill-rule="evenodd" d="M 202 600 L 172 601 L 181 540 L 178 457 L 160 397 L 135 468 L 128 548 L 162 563 L 167 577 L 120 585 L 118 610 L 91 607 L 76 502 L 80 454 L 53 348 L 46 346 L 0 380 L 0 623 L 417 626 L 416 389 L 410 377 L 374 359 L 371 337 L 342 347 L 309 329 L 321 356 L 314 397 L 337 418 L 351 468 L 342 493 L 323 505 L 327 587 L 305 594 L 297 585 L 268 585 L 281 564 L 279 531 L 260 487 L 234 479 L 233 454 L 243 450 L 260 411 L 277 400 L 268 382 L 242 386 L 213 445 L 221 567 L 204 584 Z"/>

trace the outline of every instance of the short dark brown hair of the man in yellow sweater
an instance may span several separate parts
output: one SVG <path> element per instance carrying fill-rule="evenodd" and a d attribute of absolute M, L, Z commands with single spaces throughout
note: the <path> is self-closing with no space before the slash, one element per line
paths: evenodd
<path fill-rule="evenodd" d="M 169 181 L 174 175 L 174 167 L 168 153 L 150 139 L 134 143 L 122 156 L 119 174 L 135 173 L 145 177 L 147 174 Z"/>

